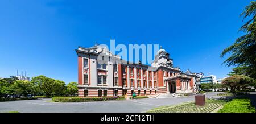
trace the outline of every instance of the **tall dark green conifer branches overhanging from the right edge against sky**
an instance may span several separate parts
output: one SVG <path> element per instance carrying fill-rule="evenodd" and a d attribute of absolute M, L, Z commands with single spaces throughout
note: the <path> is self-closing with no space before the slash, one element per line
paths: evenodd
<path fill-rule="evenodd" d="M 237 66 L 233 69 L 230 75 L 246 75 L 256 79 L 256 2 L 250 2 L 250 5 L 245 7 L 245 11 L 240 16 L 244 19 L 249 19 L 241 28 L 240 31 L 246 33 L 241 36 L 228 48 L 224 49 L 221 57 L 227 53 L 231 53 L 230 57 L 224 63 L 230 66 Z"/>

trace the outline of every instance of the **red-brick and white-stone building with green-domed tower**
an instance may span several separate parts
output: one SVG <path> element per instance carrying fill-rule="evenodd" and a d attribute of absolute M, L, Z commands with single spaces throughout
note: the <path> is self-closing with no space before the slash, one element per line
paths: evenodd
<path fill-rule="evenodd" d="M 162 47 L 151 66 L 140 61 L 129 63 L 97 44 L 90 48 L 79 47 L 76 53 L 79 97 L 131 96 L 134 92 L 144 96 L 196 90 L 196 73 L 189 70 L 183 73 L 180 68 L 173 67 L 173 60 Z M 110 60 L 99 64 L 97 58 L 101 53 Z"/>

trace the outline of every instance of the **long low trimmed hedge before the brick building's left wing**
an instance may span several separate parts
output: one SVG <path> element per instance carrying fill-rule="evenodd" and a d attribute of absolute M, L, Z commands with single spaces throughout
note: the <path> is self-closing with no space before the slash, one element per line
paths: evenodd
<path fill-rule="evenodd" d="M 88 102 L 107 100 L 125 100 L 125 97 L 52 97 L 52 101 L 54 102 Z"/>

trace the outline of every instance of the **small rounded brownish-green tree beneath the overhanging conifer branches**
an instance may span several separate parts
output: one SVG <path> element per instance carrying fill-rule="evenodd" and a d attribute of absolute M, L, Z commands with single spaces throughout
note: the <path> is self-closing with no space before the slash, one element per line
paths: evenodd
<path fill-rule="evenodd" d="M 231 89 L 231 92 L 236 92 L 246 86 L 249 86 L 253 83 L 253 78 L 244 75 L 233 75 L 228 78 L 225 78 L 222 83 L 224 86 L 228 86 Z"/>

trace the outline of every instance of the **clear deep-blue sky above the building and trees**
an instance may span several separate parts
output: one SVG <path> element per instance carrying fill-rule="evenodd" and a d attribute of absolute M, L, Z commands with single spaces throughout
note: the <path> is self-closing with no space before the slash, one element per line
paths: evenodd
<path fill-rule="evenodd" d="M 0 77 L 27 71 L 66 83 L 77 81 L 78 46 L 95 42 L 160 44 L 183 71 L 230 68 L 221 51 L 242 32 L 250 1 L 0 1 Z"/>

